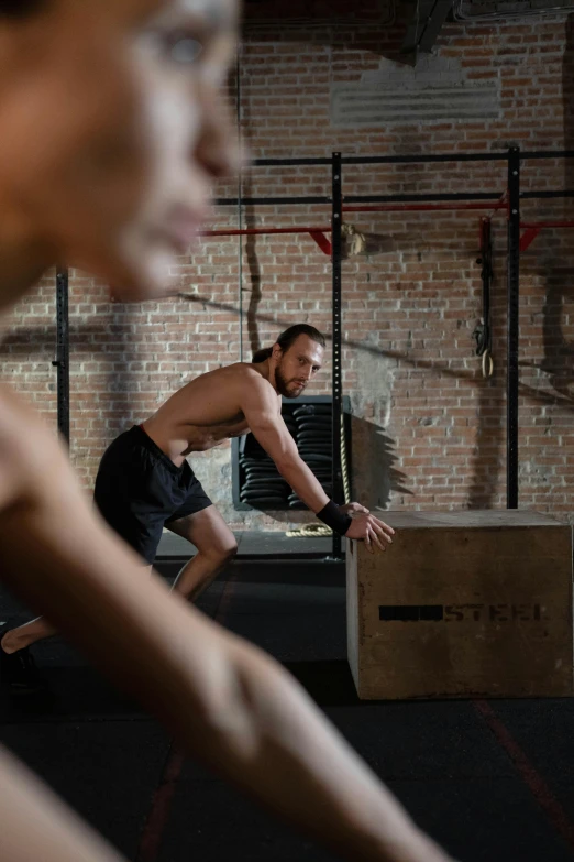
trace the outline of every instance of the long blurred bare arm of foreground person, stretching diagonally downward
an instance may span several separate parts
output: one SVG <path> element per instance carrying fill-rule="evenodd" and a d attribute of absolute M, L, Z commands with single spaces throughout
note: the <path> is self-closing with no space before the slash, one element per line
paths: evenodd
<path fill-rule="evenodd" d="M 49 432 L 0 390 L 2 488 L 2 578 L 190 754 L 343 859 L 446 862 L 277 663 L 142 575 Z"/>

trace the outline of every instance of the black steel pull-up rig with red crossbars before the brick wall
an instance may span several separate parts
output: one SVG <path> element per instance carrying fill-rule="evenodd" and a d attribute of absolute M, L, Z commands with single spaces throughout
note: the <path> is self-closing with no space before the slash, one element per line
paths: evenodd
<path fill-rule="evenodd" d="M 520 192 L 521 162 L 527 160 L 574 159 L 574 151 L 523 151 L 511 146 L 506 152 L 492 153 L 437 153 L 432 155 L 344 156 L 334 152 L 330 157 L 313 159 L 255 159 L 255 167 L 289 167 L 322 165 L 331 167 L 330 196 L 279 196 L 217 198 L 219 206 L 280 206 L 325 205 L 331 207 L 331 223 L 322 227 L 245 228 L 239 230 L 205 231 L 205 237 L 249 236 L 273 233 L 309 233 L 319 248 L 330 254 L 332 264 L 332 484 L 333 499 L 343 499 L 341 463 L 341 414 L 343 410 L 342 381 L 342 223 L 345 212 L 377 211 L 438 211 L 438 210 L 497 210 L 507 214 L 507 508 L 518 506 L 518 350 L 519 350 L 519 296 L 520 251 L 523 251 L 543 228 L 572 228 L 574 221 L 521 222 L 520 201 L 574 197 L 574 189 L 540 189 Z M 508 181 L 506 189 L 431 195 L 344 195 L 343 168 L 345 165 L 376 164 L 432 164 L 442 162 L 506 162 Z M 523 233 L 521 234 L 521 230 Z M 331 242 L 324 236 L 331 233 Z M 58 428 L 69 440 L 69 327 L 68 327 L 68 272 L 58 269 L 56 274 L 57 356 L 54 364 L 58 371 Z M 341 536 L 333 534 L 333 557 L 341 557 Z"/>

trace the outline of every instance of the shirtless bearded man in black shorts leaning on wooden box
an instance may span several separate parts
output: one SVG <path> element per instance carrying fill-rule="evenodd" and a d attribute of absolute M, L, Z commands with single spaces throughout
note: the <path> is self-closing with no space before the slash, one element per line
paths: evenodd
<path fill-rule="evenodd" d="M 286 329 L 262 361 L 236 362 L 201 374 L 172 395 L 142 425 L 108 447 L 96 478 L 95 500 L 108 524 L 143 558 L 155 559 L 164 526 L 198 553 L 174 589 L 194 600 L 236 552 L 236 543 L 186 460 L 251 430 L 278 472 L 318 519 L 367 548 L 385 550 L 394 530 L 358 503 L 338 506 L 297 451 L 282 417 L 282 395 L 298 397 L 320 370 L 324 337 L 312 326 Z M 258 357 L 255 357 L 258 358 Z M 350 512 L 353 513 L 351 516 Z M 43 618 L 9 630 L 1 640 L 5 680 L 14 694 L 43 687 L 33 643 L 55 633 Z"/>

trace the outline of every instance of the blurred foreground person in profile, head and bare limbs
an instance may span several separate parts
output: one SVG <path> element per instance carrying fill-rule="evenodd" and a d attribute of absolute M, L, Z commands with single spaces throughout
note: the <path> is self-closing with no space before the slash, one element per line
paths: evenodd
<path fill-rule="evenodd" d="M 0 0 L 2 312 L 55 260 L 159 294 L 189 208 L 234 159 L 217 98 L 234 29 L 233 0 Z M 0 559 L 189 754 L 291 826 L 354 862 L 449 862 L 279 665 L 142 578 L 5 384 Z M 1 751 L 0 797 L 2 862 L 121 862 Z"/>

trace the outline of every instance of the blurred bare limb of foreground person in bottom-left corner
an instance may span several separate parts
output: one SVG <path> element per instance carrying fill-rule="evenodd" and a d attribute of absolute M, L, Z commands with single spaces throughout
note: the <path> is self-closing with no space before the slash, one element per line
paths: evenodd
<path fill-rule="evenodd" d="M 0 750 L 2 862 L 125 862 L 42 782 Z"/>

